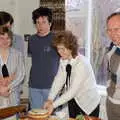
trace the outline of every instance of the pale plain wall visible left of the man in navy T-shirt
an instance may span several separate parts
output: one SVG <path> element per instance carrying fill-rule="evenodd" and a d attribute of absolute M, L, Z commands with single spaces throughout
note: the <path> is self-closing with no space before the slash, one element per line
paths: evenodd
<path fill-rule="evenodd" d="M 24 34 L 33 34 L 35 27 L 32 22 L 32 11 L 39 7 L 39 0 L 17 0 L 16 5 L 16 21 L 17 21 L 17 33 L 24 36 Z M 27 42 L 25 42 L 27 51 Z M 29 70 L 31 67 L 31 58 L 26 57 L 26 79 L 23 86 L 22 97 L 28 97 L 28 80 Z"/>

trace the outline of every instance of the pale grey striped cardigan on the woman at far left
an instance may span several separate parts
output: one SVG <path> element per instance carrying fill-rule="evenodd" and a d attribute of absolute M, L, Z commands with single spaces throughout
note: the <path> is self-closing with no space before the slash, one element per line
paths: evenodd
<path fill-rule="evenodd" d="M 2 76 L 2 60 L 0 61 L 0 76 Z M 18 105 L 20 101 L 20 85 L 25 76 L 24 60 L 21 52 L 14 48 L 9 49 L 6 62 L 9 75 L 15 73 L 15 79 L 9 84 L 10 96 L 0 96 L 0 108 Z"/>

